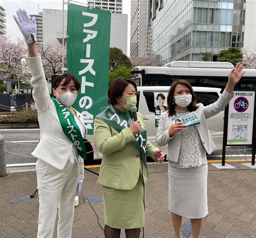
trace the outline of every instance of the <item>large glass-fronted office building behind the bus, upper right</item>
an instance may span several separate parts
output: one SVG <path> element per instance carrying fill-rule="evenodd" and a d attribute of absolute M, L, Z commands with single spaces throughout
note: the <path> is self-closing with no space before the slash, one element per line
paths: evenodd
<path fill-rule="evenodd" d="M 243 46 L 245 0 L 148 0 L 149 52 L 164 65 Z"/>

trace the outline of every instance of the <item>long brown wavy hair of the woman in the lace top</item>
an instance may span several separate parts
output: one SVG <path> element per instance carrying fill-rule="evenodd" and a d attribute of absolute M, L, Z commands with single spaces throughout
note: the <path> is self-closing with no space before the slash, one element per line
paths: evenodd
<path fill-rule="evenodd" d="M 177 81 L 172 83 L 167 96 L 167 110 L 169 111 L 169 116 L 173 116 L 173 115 L 176 116 L 175 103 L 172 104 L 172 102 L 174 102 L 174 92 L 177 85 L 184 85 L 190 90 L 190 94 L 192 95 L 192 102 L 187 106 L 187 110 L 195 111 L 198 108 L 197 95 L 194 93 L 194 90 L 191 84 L 184 79 L 178 79 Z"/>

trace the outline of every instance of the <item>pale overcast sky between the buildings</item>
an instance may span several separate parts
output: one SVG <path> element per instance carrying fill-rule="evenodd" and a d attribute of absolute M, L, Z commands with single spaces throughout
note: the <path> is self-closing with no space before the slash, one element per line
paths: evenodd
<path fill-rule="evenodd" d="M 67 1 L 67 0 L 66 0 Z M 75 0 L 79 3 L 87 3 L 87 0 Z M 62 9 L 62 0 L 0 0 L 0 5 L 6 10 L 6 35 L 11 36 L 11 39 L 17 41 L 17 38 L 22 38 L 22 34 L 18 29 L 12 15 L 16 14 L 19 8 L 25 9 L 29 14 L 37 14 L 43 8 Z M 65 5 L 65 9 L 66 9 Z M 131 0 L 123 0 L 123 13 L 128 14 L 128 45 L 127 55 L 130 55 L 130 15 L 131 15 Z"/>

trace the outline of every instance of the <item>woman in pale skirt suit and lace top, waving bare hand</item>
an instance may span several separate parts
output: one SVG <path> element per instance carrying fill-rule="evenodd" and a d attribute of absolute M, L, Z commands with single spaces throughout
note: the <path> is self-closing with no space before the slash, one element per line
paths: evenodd
<path fill-rule="evenodd" d="M 219 99 L 208 105 L 197 104 L 197 97 L 189 82 L 172 83 L 167 96 L 167 111 L 161 114 L 156 136 L 159 146 L 168 144 L 169 209 L 176 237 L 181 236 L 182 217 L 191 219 L 193 237 L 199 237 L 204 216 L 207 215 L 207 158 L 215 145 L 206 119 L 223 110 L 234 96 L 233 88 L 244 74 L 237 64 Z M 195 111 L 200 124 L 184 128 L 183 122 L 172 123 L 178 117 Z M 176 120 L 173 120 L 174 122 Z"/>

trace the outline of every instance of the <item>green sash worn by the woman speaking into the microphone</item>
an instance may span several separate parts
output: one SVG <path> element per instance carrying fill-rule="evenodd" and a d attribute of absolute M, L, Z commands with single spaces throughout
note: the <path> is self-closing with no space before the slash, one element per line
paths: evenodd
<path fill-rule="evenodd" d="M 110 125 L 117 132 L 121 132 L 124 128 L 130 127 L 132 119 L 127 116 L 127 113 L 123 113 L 118 109 L 110 106 L 105 111 L 97 115 L 100 119 Z M 133 146 L 142 153 L 141 158 L 146 165 L 146 143 L 147 143 L 147 132 L 142 128 L 140 134 L 134 135 L 136 141 L 132 142 Z"/>

